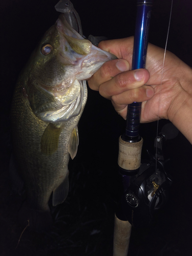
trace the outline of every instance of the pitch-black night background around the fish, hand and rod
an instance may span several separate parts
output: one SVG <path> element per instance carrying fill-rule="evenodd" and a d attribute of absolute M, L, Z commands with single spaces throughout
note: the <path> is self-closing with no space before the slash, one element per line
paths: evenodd
<path fill-rule="evenodd" d="M 54 229 L 49 233 L 23 231 L 17 212 L 23 198 L 16 195 L 8 175 L 11 154 L 9 111 L 20 70 L 44 32 L 58 17 L 58 0 L 1 0 L 1 256 L 112 255 L 116 203 L 118 137 L 125 123 L 110 101 L 89 90 L 79 122 L 78 154 L 70 161 L 70 193 L 52 207 Z M 109 39 L 134 34 L 136 1 L 75 1 L 83 34 Z M 174 1 L 167 50 L 192 66 L 191 2 Z M 165 47 L 170 1 L 154 1 L 150 42 Z M 159 122 L 161 130 L 166 120 Z M 141 124 L 143 151 L 153 150 L 157 122 Z M 146 229 L 133 229 L 129 256 L 187 256 L 191 243 L 191 144 L 182 134 L 169 140 L 165 154 L 174 183 L 165 208 Z"/>

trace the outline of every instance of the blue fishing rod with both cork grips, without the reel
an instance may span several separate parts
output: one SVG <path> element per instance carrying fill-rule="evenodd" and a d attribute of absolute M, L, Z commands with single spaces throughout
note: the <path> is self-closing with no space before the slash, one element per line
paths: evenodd
<path fill-rule="evenodd" d="M 137 1 L 132 69 L 145 67 L 151 9 L 152 1 Z M 118 156 L 123 193 L 130 186 L 131 176 L 137 174 L 141 164 L 143 139 L 139 135 L 140 115 L 141 102 L 133 102 L 127 106 L 126 129 L 119 138 Z M 135 199 L 130 200 L 134 203 Z M 127 220 L 123 205 L 120 202 L 115 213 L 113 256 L 126 256 L 129 249 L 132 221 Z"/>

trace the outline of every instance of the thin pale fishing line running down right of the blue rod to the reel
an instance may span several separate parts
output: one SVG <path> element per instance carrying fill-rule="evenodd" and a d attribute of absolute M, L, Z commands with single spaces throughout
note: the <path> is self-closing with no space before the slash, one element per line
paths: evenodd
<path fill-rule="evenodd" d="M 168 34 L 169 34 L 169 28 L 170 28 L 170 19 L 172 17 L 172 8 L 173 8 L 173 0 L 172 0 L 172 4 L 170 6 L 169 23 L 168 23 L 166 42 L 165 42 L 165 51 L 164 51 L 164 56 L 163 56 L 163 66 L 162 66 L 162 71 L 161 71 L 161 83 L 160 83 L 160 92 L 159 92 L 159 108 L 158 108 L 158 118 L 157 118 L 157 136 L 156 136 L 157 140 L 158 140 L 158 129 L 159 129 L 159 111 L 160 111 L 160 101 L 161 101 L 161 87 L 162 87 L 162 79 L 163 79 L 163 71 L 164 71 L 164 63 L 165 63 L 165 55 L 166 55 Z M 155 169 L 156 169 L 156 179 L 157 179 L 157 146 L 156 146 Z M 155 183 L 157 184 L 157 180 L 155 181 Z"/>

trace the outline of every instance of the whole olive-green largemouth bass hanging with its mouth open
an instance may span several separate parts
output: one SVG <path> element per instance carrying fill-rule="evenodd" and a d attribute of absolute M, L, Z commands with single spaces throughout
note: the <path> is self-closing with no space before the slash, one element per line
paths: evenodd
<path fill-rule="evenodd" d="M 12 137 L 15 165 L 26 190 L 20 222 L 49 229 L 48 201 L 65 201 L 69 158 L 78 147 L 77 124 L 87 100 L 86 79 L 114 55 L 84 39 L 59 15 L 32 53 L 15 88 Z"/>

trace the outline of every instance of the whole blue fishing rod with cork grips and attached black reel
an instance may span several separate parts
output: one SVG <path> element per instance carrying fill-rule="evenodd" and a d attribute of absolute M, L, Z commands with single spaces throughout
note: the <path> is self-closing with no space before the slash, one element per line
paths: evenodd
<path fill-rule="evenodd" d="M 132 70 L 145 68 L 152 0 L 137 0 Z M 163 144 L 175 138 L 176 127 L 169 123 L 155 138 L 155 156 L 141 161 L 143 139 L 139 135 L 141 102 L 127 106 L 125 133 L 119 138 L 118 165 L 122 195 L 115 212 L 113 256 L 126 256 L 131 228 L 146 227 L 154 211 L 167 199 L 172 180 L 166 174 Z"/>

